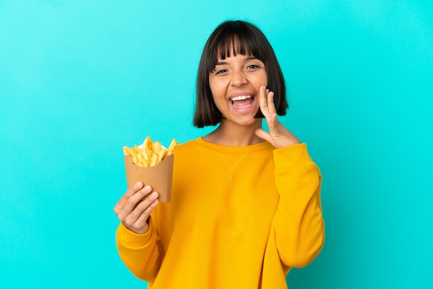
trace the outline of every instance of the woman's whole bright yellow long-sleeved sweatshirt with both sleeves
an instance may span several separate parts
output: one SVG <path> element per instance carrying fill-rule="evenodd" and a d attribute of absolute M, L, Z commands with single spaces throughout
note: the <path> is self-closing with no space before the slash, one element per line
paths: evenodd
<path fill-rule="evenodd" d="M 174 151 L 172 201 L 149 231 L 122 224 L 125 265 L 151 289 L 287 288 L 324 242 L 322 177 L 305 144 L 225 147 L 191 140 Z"/>

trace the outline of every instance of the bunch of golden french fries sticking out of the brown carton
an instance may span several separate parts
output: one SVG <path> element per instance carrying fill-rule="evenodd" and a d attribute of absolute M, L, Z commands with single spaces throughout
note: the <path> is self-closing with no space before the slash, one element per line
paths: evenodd
<path fill-rule="evenodd" d="M 123 152 L 125 156 L 131 157 L 134 164 L 140 167 L 154 167 L 159 165 L 166 156 L 171 156 L 176 145 L 178 145 L 178 141 L 173 139 L 166 149 L 158 140 L 154 142 L 150 136 L 147 136 L 142 145 L 123 147 Z"/>

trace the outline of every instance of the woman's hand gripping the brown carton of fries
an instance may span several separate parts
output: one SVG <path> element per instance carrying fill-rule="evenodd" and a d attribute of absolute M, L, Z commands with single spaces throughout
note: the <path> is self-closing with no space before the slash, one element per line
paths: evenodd
<path fill-rule="evenodd" d="M 147 219 L 158 205 L 158 193 L 149 185 L 138 182 L 120 198 L 114 212 L 119 220 L 132 232 L 145 234 L 149 230 Z"/>

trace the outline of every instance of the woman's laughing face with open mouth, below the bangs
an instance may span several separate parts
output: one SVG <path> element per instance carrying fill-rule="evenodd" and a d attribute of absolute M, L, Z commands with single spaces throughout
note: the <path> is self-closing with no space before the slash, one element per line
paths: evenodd
<path fill-rule="evenodd" d="M 261 122 L 254 117 L 260 109 L 259 88 L 268 83 L 265 65 L 252 56 L 231 55 L 219 59 L 209 74 L 210 91 L 216 107 L 223 114 L 221 124 Z"/>

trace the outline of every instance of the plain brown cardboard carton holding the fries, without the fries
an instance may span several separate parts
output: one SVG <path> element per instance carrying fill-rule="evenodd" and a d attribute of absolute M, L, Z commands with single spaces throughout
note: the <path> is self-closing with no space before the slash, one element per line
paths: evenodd
<path fill-rule="evenodd" d="M 137 182 L 150 185 L 159 193 L 158 200 L 168 203 L 172 198 L 174 156 L 166 156 L 159 165 L 154 167 L 140 167 L 135 165 L 129 156 L 125 156 L 125 171 L 127 185 L 131 187 Z"/>

